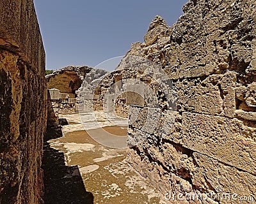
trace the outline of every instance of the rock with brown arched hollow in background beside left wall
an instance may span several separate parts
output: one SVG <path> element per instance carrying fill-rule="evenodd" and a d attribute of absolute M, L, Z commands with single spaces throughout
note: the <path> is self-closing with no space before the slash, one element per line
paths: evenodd
<path fill-rule="evenodd" d="M 76 91 L 91 70 L 88 66 L 67 66 L 58 69 L 46 76 L 47 89 L 59 89 L 60 92 L 68 93 L 70 98 L 75 98 Z"/>

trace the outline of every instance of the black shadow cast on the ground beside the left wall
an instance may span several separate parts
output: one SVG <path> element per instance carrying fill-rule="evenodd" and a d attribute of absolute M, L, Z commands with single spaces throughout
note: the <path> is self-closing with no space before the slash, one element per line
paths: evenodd
<path fill-rule="evenodd" d="M 52 149 L 47 142 L 62 136 L 57 124 L 47 128 L 44 141 L 44 202 L 45 204 L 93 204 L 93 194 L 87 192 L 78 166 L 66 166 L 63 152 Z"/>

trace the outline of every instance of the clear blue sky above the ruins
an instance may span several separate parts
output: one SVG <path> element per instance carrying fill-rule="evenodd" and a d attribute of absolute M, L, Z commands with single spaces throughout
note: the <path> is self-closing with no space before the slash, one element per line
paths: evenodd
<path fill-rule="evenodd" d="M 156 15 L 172 25 L 188 0 L 34 0 L 46 68 L 96 66 L 143 42 Z"/>

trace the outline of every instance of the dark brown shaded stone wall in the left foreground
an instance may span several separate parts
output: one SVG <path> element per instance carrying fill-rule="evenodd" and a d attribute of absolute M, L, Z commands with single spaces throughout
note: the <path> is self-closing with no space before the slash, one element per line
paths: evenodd
<path fill-rule="evenodd" d="M 0 1 L 0 203 L 40 203 L 45 53 L 33 1 Z"/>

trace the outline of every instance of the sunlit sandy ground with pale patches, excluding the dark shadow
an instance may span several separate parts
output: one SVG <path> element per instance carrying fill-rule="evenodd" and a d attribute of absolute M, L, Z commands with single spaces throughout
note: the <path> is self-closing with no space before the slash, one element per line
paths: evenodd
<path fill-rule="evenodd" d="M 67 166 L 78 166 L 86 191 L 93 194 L 93 203 L 166 203 L 164 196 L 127 164 L 126 149 L 100 145 L 86 133 L 84 128 L 97 131 L 101 126 L 108 133 L 125 138 L 127 122 L 124 119 L 111 122 L 102 112 L 96 114 L 97 125 L 93 124 L 92 115 L 60 115 L 67 119 L 68 125 L 63 126 L 61 138 L 49 140 L 51 148 L 64 153 Z"/>

